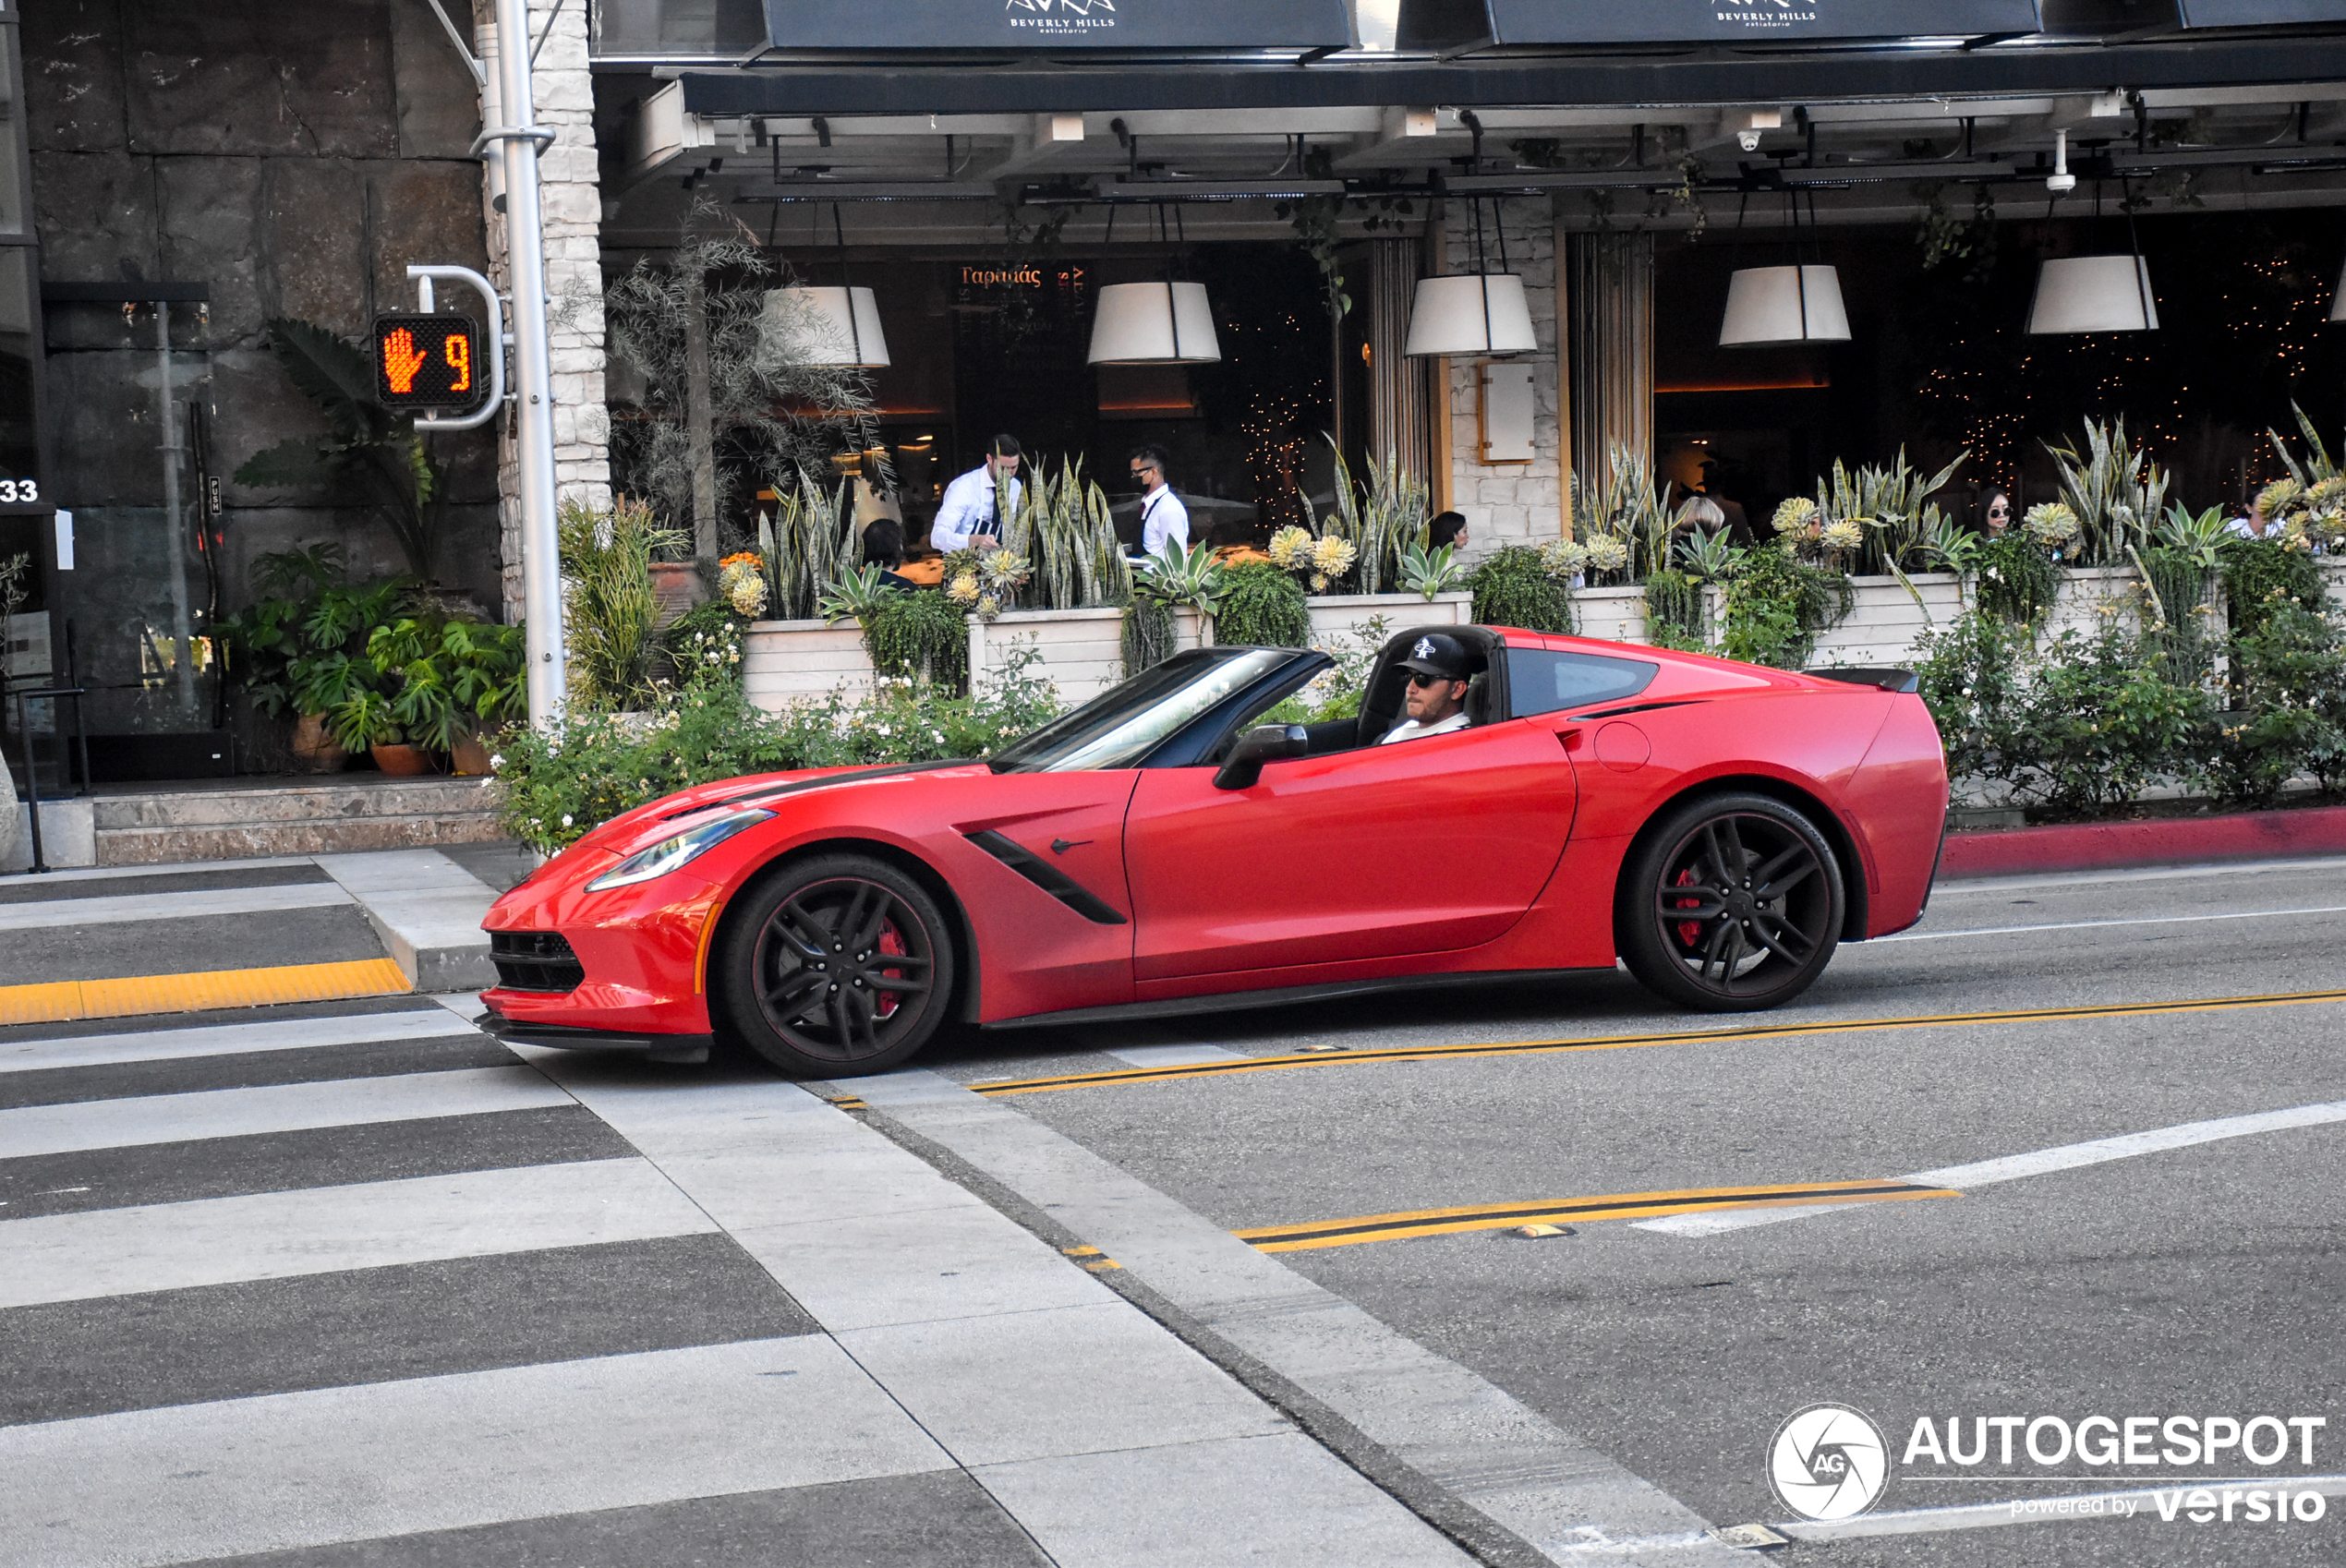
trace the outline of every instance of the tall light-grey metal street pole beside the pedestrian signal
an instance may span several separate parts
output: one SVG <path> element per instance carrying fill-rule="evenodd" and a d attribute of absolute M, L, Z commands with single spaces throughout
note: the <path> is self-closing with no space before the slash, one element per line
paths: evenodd
<path fill-rule="evenodd" d="M 551 26 L 551 21 L 547 23 Z M 497 0 L 497 117 L 504 143 L 504 272 L 514 291 L 514 457 L 521 466 L 521 607 L 528 616 L 530 722 L 551 722 L 570 696 L 563 663 L 563 577 L 554 527 L 554 370 L 547 359 L 547 237 L 537 209 L 540 129 L 530 84 L 528 0 Z"/>

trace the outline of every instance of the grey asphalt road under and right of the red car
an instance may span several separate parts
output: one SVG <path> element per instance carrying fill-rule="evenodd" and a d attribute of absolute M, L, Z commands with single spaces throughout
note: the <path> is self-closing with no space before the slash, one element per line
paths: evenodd
<path fill-rule="evenodd" d="M 1661 1013 L 1621 975 L 1006 1034 L 941 1071 L 983 1088 L 1211 1050 L 1325 1052 L 997 1099 L 1229 1230 L 1846 1184 L 2346 1102 L 2346 996 L 2226 1001 L 2341 989 L 2341 945 L 2339 863 L 1950 884 L 1914 933 L 1844 947 L 1809 998 L 1760 1020 L 1837 1024 L 1806 1034 L 1349 1059 L 1752 1022 Z M 2224 1005 L 2149 1010 L 2203 998 Z M 1708 1521 L 1781 1521 L 1764 1455 L 1818 1402 L 1886 1432 L 1877 1512 L 2346 1472 L 2341 1193 L 2346 1125 L 2332 1120 L 1713 1235 L 1600 1219 L 1539 1240 L 1471 1230 L 1279 1256 Z M 2311 1465 L 2297 1451 L 2271 1467 L 2236 1453 L 2215 1467 L 1896 1463 L 1924 1416 L 1938 1432 L 1964 1418 L 1968 1444 L 1980 1416 L 2095 1413 L 2327 1427 Z M 2041 1444 L 2055 1451 L 2050 1427 Z M 2316 1523 L 2191 1526 L 2144 1502 L 2123 1523 L 1804 1542 L 1783 1561 L 2341 1563 L 2346 1498 L 2323 1507 Z"/>

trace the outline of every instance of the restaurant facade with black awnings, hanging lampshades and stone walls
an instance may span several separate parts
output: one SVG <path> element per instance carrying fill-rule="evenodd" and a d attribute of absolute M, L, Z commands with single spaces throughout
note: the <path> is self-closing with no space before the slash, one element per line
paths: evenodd
<path fill-rule="evenodd" d="M 0 499 L 0 558 L 33 560 L 9 666 L 63 668 L 70 642 L 101 778 L 237 764 L 206 626 L 258 553 L 401 565 L 366 506 L 235 471 L 317 429 L 272 319 L 357 335 L 408 298 L 408 263 L 502 267 L 465 54 L 486 12 L 434 9 L 0 9 L 0 260 L 21 263 L 0 270 L 0 462 L 33 485 Z M 558 480 L 586 502 L 638 485 L 645 415 L 601 291 L 687 232 L 868 291 L 870 408 L 791 413 L 915 539 L 995 434 L 1082 459 L 1128 527 L 1126 452 L 1161 445 L 1218 541 L 1325 509 L 1337 459 L 1401 464 L 1480 555 L 1569 534 L 1569 476 L 1614 452 L 1760 516 L 1835 459 L 1900 450 L 1971 452 L 1966 480 L 2025 492 L 2046 438 L 2125 415 L 2215 504 L 2264 473 L 2290 403 L 2332 436 L 2346 417 L 2346 5 L 2327 0 L 549 0 L 533 19 Z M 2156 330 L 2046 330 L 2046 279 L 2109 255 L 2144 258 L 2128 277 Z M 1175 305 L 1199 288 L 1192 321 Z M 1168 342 L 1114 347 L 1152 300 Z M 439 441 L 436 577 L 514 616 L 511 455 L 493 431 Z M 741 478 L 727 539 L 772 476 Z"/>

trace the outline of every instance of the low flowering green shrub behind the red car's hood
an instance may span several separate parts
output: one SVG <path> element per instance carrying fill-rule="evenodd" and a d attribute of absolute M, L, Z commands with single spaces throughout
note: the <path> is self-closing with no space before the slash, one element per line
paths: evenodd
<path fill-rule="evenodd" d="M 908 595 L 910 598 L 910 595 Z M 572 713 L 497 741 L 504 830 L 554 853 L 645 802 L 744 773 L 985 757 L 1058 715 L 1051 684 L 1013 656 L 976 696 L 882 677 L 870 694 L 755 708 L 716 668 L 647 715 Z"/>

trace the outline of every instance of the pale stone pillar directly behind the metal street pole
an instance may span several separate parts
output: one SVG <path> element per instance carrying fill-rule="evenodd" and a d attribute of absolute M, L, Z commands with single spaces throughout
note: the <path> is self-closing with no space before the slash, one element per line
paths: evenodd
<path fill-rule="evenodd" d="M 476 0 L 476 19 L 493 19 L 493 2 Z M 610 506 L 610 415 L 603 408 L 603 188 L 596 173 L 594 77 L 586 70 L 586 7 L 530 0 L 530 33 L 554 35 L 537 54 L 537 124 L 556 134 L 537 159 L 551 302 L 549 359 L 554 370 L 554 490 L 561 499 Z M 504 277 L 504 213 L 488 206 L 490 277 Z M 497 443 L 502 490 L 500 532 L 504 614 L 521 619 L 521 513 L 514 441 Z"/>

